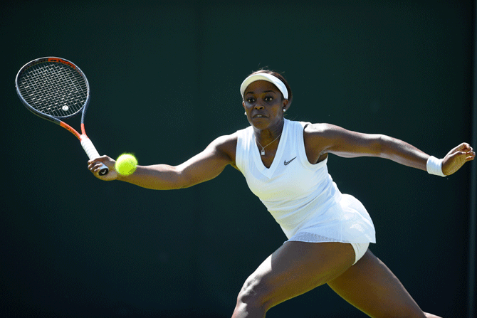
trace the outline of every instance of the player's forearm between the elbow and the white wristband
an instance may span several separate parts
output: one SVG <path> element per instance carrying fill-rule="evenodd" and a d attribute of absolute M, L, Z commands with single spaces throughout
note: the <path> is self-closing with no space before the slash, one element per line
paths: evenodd
<path fill-rule="evenodd" d="M 382 135 L 380 137 L 380 156 L 396 161 L 404 166 L 411 166 L 426 171 L 429 155 L 402 140 Z"/>

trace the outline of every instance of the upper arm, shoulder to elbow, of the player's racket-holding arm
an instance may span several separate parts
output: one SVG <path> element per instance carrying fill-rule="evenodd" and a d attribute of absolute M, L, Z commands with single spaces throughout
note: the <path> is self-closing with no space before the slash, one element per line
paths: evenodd
<path fill-rule="evenodd" d="M 176 167 L 182 188 L 214 179 L 228 164 L 235 164 L 237 139 L 234 134 L 221 136 L 204 151 Z"/>

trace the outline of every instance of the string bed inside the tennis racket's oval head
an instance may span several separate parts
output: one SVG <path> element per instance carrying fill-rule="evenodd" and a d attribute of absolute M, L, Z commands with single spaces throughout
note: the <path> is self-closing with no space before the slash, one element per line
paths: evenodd
<path fill-rule="evenodd" d="M 28 105 L 53 117 L 75 115 L 88 100 L 85 78 L 63 63 L 31 66 L 19 78 L 19 91 Z"/>

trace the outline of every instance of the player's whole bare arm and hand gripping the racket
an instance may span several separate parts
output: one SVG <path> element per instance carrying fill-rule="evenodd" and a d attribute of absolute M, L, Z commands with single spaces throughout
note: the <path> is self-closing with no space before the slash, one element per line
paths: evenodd
<path fill-rule="evenodd" d="M 88 169 L 98 179 L 110 181 L 120 180 L 142 186 L 147 189 L 169 190 L 182 189 L 194 186 L 204 181 L 214 179 L 228 164 L 235 161 L 236 137 L 222 136 L 215 139 L 203 152 L 178 166 L 168 164 L 154 164 L 151 166 L 137 166 L 130 176 L 122 176 L 115 171 L 115 160 L 108 156 L 88 161 Z M 106 176 L 98 176 L 100 163 L 110 169 Z"/>

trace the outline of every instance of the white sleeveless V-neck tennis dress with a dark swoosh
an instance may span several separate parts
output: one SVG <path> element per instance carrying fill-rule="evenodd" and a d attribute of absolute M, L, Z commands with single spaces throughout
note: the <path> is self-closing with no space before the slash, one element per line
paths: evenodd
<path fill-rule="evenodd" d="M 236 166 L 248 187 L 280 224 L 288 240 L 376 243 L 374 225 L 355 197 L 341 194 L 326 166 L 310 164 L 303 129 L 307 122 L 285 120 L 270 168 L 263 165 L 253 128 L 237 132 Z"/>

